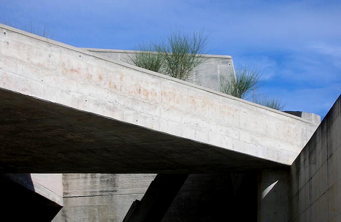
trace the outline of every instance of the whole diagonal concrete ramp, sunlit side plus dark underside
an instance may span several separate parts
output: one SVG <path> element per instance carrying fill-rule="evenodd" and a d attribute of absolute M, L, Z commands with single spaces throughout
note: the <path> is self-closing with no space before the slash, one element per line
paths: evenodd
<path fill-rule="evenodd" d="M 317 127 L 3 24 L 0 31 L 3 172 L 280 167 Z"/>

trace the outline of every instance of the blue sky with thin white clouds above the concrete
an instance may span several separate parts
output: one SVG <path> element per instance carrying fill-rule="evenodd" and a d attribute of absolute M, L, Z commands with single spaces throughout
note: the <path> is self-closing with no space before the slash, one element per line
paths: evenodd
<path fill-rule="evenodd" d="M 78 47 L 133 50 L 204 30 L 210 54 L 263 72 L 261 94 L 326 115 L 341 93 L 341 1 L 0 0 L 0 22 Z"/>

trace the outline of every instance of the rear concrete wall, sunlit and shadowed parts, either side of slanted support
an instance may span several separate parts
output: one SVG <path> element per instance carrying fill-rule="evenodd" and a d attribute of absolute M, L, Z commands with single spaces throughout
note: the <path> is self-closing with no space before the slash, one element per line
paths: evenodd
<path fill-rule="evenodd" d="M 53 222 L 120 222 L 155 176 L 64 174 L 64 207 Z M 236 220 L 257 220 L 257 171 L 189 175 L 162 222 L 219 221 L 226 213 Z"/>

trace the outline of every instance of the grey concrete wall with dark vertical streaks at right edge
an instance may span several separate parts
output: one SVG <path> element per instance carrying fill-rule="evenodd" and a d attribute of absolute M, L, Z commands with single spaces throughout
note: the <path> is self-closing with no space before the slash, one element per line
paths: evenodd
<path fill-rule="evenodd" d="M 290 167 L 290 221 L 341 221 L 341 96 Z"/>

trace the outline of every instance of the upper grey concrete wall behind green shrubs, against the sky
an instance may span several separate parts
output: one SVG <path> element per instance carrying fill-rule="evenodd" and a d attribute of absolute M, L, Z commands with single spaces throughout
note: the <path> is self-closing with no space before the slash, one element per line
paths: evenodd
<path fill-rule="evenodd" d="M 131 63 L 129 57 L 136 51 L 106 50 L 100 48 L 84 48 L 84 50 L 106 56 L 114 61 Z M 231 56 L 205 55 L 205 62 L 193 70 L 190 83 L 220 91 L 220 83 L 226 79 L 235 78 L 234 66 Z"/>

